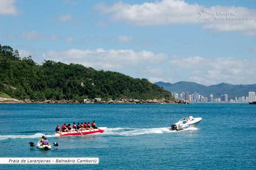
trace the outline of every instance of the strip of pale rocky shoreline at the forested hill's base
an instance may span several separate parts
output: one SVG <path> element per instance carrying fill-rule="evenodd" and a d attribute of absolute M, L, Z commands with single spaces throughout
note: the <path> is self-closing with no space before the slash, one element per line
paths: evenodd
<path fill-rule="evenodd" d="M 186 102 L 184 99 L 179 99 L 176 101 L 170 101 L 167 99 L 148 99 L 148 100 L 138 100 L 138 99 L 120 99 L 120 100 L 112 100 L 102 101 L 101 98 L 95 98 L 94 100 L 83 99 L 83 101 L 78 100 L 44 100 L 44 101 L 34 101 L 30 99 L 25 99 L 24 101 L 14 99 L 14 98 L 1 98 L 0 103 L 100 103 L 100 104 L 190 104 Z"/>

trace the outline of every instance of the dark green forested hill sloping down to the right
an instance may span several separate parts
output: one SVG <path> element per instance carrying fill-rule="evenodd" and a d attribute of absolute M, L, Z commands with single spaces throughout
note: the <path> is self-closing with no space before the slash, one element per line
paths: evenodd
<path fill-rule="evenodd" d="M 17 99 L 162 99 L 171 93 L 147 79 L 131 78 L 111 71 L 97 71 L 80 64 L 45 61 L 31 56 L 20 59 L 19 52 L 0 45 L 0 92 Z"/>

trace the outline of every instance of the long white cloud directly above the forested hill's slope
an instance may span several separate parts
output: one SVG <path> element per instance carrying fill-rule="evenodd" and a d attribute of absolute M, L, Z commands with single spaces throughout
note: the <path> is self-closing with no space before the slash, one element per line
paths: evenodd
<path fill-rule="evenodd" d="M 135 52 L 133 50 L 79 50 L 70 49 L 68 51 L 56 52 L 48 51 L 42 54 L 46 60 L 60 61 L 63 63 L 79 63 L 86 67 L 95 69 L 117 70 L 137 65 L 161 63 L 166 60 L 166 55 L 142 50 Z"/>

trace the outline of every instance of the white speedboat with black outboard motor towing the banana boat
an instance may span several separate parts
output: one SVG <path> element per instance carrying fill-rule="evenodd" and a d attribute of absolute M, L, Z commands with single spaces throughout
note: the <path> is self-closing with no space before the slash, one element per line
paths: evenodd
<path fill-rule="evenodd" d="M 186 120 L 186 123 L 183 123 L 183 120 Z M 172 125 L 171 128 L 169 130 L 173 130 L 173 131 L 181 131 L 190 127 L 194 127 L 196 126 L 200 121 L 202 120 L 201 117 L 196 117 L 193 118 L 191 121 L 189 120 L 189 118 L 185 117 L 182 118 L 181 120 L 179 120 L 176 124 Z"/>

